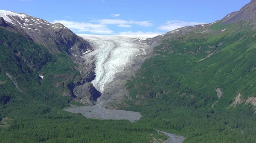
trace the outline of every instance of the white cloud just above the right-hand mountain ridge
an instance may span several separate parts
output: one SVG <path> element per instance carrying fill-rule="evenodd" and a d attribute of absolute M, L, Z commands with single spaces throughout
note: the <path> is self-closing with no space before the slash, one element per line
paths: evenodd
<path fill-rule="evenodd" d="M 173 20 L 173 21 L 167 21 L 164 25 L 161 25 L 157 29 L 163 30 L 163 31 L 172 31 L 177 28 L 181 28 L 184 26 L 193 26 L 193 25 L 199 25 L 199 24 L 205 24 L 203 22 L 186 22 L 186 21 L 179 21 L 179 20 Z"/>

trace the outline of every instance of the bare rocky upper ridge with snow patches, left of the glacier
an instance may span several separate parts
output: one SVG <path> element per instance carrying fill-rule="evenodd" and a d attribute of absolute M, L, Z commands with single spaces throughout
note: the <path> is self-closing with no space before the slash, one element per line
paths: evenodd
<path fill-rule="evenodd" d="M 44 45 L 51 53 L 64 50 L 67 53 L 80 56 L 91 50 L 89 43 L 74 34 L 61 23 L 49 23 L 37 17 L 12 11 L 0 10 L 0 25 L 12 25 L 20 33 L 25 32 L 38 44 Z M 3 21 L 5 20 L 5 22 Z"/>

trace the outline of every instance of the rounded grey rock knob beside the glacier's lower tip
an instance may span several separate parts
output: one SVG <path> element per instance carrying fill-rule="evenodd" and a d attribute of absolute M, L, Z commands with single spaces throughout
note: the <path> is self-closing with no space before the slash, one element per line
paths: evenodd
<path fill-rule="evenodd" d="M 73 92 L 76 95 L 74 101 L 82 104 L 93 104 L 93 101 L 96 101 L 101 95 L 101 93 L 93 87 L 93 84 L 88 82 L 75 87 Z"/>

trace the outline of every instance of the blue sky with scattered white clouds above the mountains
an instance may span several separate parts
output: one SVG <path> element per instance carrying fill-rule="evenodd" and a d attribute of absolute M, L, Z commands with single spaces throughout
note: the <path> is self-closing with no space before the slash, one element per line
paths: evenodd
<path fill-rule="evenodd" d="M 163 34 L 210 23 L 250 0 L 0 0 L 0 9 L 61 22 L 79 34 Z"/>

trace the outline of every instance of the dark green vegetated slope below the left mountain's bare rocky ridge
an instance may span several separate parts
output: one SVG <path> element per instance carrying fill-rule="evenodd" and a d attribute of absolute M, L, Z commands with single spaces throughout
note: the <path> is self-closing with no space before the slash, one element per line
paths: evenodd
<path fill-rule="evenodd" d="M 37 45 L 31 39 L 0 28 L 2 104 L 17 97 L 27 101 L 56 102 L 52 98 L 57 99 L 59 95 L 71 96 L 67 85 L 77 76 L 72 68 L 74 66 L 65 53 L 52 55 L 44 46 Z M 63 104 L 67 104 L 67 101 Z"/>

